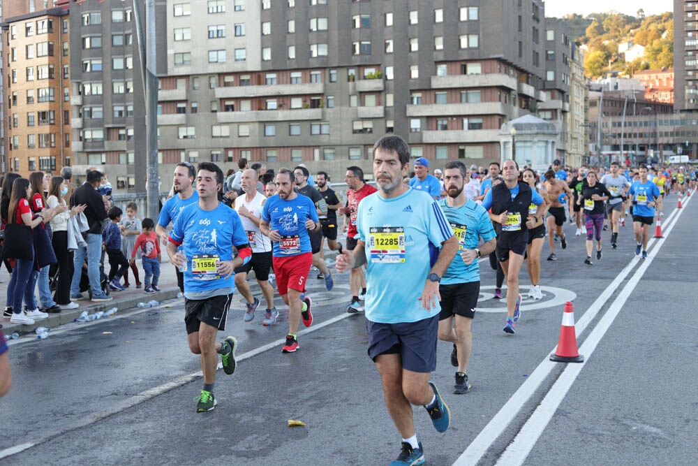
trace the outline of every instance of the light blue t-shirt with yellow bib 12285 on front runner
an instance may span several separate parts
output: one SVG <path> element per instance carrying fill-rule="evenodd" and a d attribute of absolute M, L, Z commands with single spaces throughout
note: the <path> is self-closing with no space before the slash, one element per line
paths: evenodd
<path fill-rule="evenodd" d="M 356 227 L 368 262 L 366 319 L 400 323 L 438 315 L 438 303 L 429 312 L 419 300 L 441 243 L 453 235 L 438 203 L 414 189 L 390 199 L 374 193 L 359 203 Z"/>

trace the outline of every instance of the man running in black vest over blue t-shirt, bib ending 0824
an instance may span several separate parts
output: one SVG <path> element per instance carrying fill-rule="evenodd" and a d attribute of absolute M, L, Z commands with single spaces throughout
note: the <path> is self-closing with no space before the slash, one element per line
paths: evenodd
<path fill-rule="evenodd" d="M 546 175 L 551 171 L 548 170 Z M 528 209 L 531 203 L 540 207 L 543 198 L 536 191 L 532 191 L 528 183 L 519 181 L 519 165 L 515 161 L 505 161 L 502 173 L 504 182 L 487 193 L 482 207 L 488 210 L 492 208 L 490 218 L 496 222 L 494 229 L 498 232 L 497 259 L 507 279 L 507 323 L 504 331 L 513 334 L 514 324 L 521 317 L 519 272 L 523 265 L 523 253 L 528 245 Z M 567 184 L 560 180 L 556 180 L 556 184 L 569 189 Z M 564 214 L 563 210 L 563 216 Z"/>

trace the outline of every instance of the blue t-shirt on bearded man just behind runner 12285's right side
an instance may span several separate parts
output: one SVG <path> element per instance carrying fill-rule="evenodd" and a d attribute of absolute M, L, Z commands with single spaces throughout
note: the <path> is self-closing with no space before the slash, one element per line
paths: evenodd
<path fill-rule="evenodd" d="M 461 207 L 450 207 L 445 199 L 439 201 L 438 205 L 460 244 L 459 252 L 441 278 L 441 284 L 479 282 L 480 266 L 477 259 L 466 265 L 460 253 L 463 249 L 475 249 L 480 244 L 480 237 L 486 242 L 497 237 L 487 210 L 472 199 L 468 199 Z"/>

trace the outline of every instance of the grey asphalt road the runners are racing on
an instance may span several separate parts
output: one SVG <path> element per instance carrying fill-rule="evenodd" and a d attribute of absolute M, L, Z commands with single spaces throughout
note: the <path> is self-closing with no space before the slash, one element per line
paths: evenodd
<path fill-rule="evenodd" d="M 502 331 L 504 303 L 492 298 L 493 271 L 482 262 L 473 390 L 451 393 L 451 346 L 442 343 L 432 379 L 450 405 L 451 428 L 438 434 L 415 407 L 426 464 L 695 464 L 692 200 L 681 211 L 665 208 L 666 238 L 653 240 L 646 261 L 634 257 L 628 224 L 618 249 L 604 232 L 603 259 L 585 265 L 584 240 L 566 224 L 570 246 L 558 245 L 554 263 L 544 247 L 544 299 L 524 301 L 513 336 Z M 666 204 L 674 207 L 676 196 Z M 525 270 L 520 277 L 526 292 Z M 322 280 L 310 280 L 315 323 L 299 333 L 295 354 L 281 354 L 285 319 L 265 328 L 258 312 L 243 323 L 235 302 L 221 337 L 237 337 L 238 369 L 218 371 L 218 406 L 205 414 L 195 413 L 200 364 L 186 345 L 179 300 L 61 326 L 46 340 L 13 340 L 0 464 L 389 463 L 399 435 L 366 356 L 364 319 L 346 314 L 348 274 L 335 281 L 327 292 Z M 565 300 L 574 300 L 583 364 L 548 361 Z M 288 419 L 306 427 L 289 428 Z"/>

